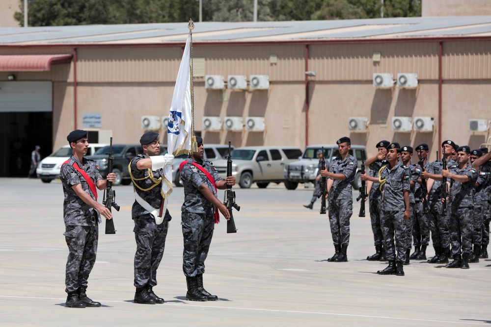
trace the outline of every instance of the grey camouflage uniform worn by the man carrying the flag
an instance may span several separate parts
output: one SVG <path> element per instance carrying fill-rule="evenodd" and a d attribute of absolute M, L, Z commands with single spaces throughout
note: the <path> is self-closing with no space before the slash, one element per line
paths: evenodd
<path fill-rule="evenodd" d="M 133 187 L 140 198 L 158 210 L 162 204 L 161 183 L 164 170 L 137 169 L 136 163 L 144 158 L 149 158 L 149 156 L 139 154 L 130 162 L 129 171 Z M 171 216 L 166 210 L 163 223 L 157 225 L 155 217 L 137 201 L 133 203 L 131 216 L 135 223 L 133 232 L 135 232 L 136 241 L 134 285 L 136 288 L 142 288 L 145 285 L 153 287 L 157 285 L 157 268 L 164 255 L 165 238 Z"/>

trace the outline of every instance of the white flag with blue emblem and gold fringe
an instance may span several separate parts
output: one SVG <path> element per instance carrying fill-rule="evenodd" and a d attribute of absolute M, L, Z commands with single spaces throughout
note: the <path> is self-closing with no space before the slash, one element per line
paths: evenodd
<path fill-rule="evenodd" d="M 191 113 L 191 33 L 186 40 L 181 66 L 177 73 L 176 86 L 169 110 L 167 125 L 167 151 L 174 156 L 191 153 L 192 113 Z M 162 193 L 166 198 L 172 193 L 172 167 L 164 167 Z"/>

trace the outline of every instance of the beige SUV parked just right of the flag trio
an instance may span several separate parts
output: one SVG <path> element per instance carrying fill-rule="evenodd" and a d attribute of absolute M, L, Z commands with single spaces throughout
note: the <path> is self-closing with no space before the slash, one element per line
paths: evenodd
<path fill-rule="evenodd" d="M 232 176 L 241 188 L 249 188 L 256 183 L 266 188 L 269 183 L 284 181 L 283 167 L 297 160 L 302 151 L 292 147 L 244 147 L 232 151 Z M 218 174 L 227 176 L 227 160 L 214 161 Z"/>

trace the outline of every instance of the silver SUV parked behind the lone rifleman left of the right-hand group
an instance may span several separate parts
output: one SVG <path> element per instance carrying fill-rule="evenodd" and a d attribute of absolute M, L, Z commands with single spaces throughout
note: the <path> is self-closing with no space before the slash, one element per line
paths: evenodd
<path fill-rule="evenodd" d="M 324 147 L 324 158 L 326 164 L 339 156 L 338 146 L 335 144 L 326 145 L 311 145 L 305 148 L 299 161 L 292 162 L 285 165 L 283 172 L 285 178 L 285 187 L 289 190 L 295 190 L 299 183 L 315 182 L 317 176 L 317 166 L 319 159 L 317 158 L 317 151 Z M 366 160 L 366 147 L 362 145 L 351 145 L 350 154 L 353 155 L 358 161 L 358 167 L 356 168 L 356 176 L 352 185 L 357 190 L 361 187 L 361 160 Z"/>

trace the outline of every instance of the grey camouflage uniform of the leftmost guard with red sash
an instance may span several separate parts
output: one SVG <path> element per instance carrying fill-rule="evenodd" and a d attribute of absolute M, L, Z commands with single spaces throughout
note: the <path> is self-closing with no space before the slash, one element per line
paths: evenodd
<path fill-rule="evenodd" d="M 72 186 L 81 184 L 83 191 L 97 201 L 96 195 L 92 193 L 82 174 L 73 167 L 74 163 L 85 171 L 95 184 L 102 179 L 95 162 L 90 159 L 83 158 L 83 163 L 81 163 L 72 155 L 68 163 L 61 166 L 60 179 L 65 195 L 63 201 L 65 233 L 63 235 L 65 235 L 69 250 L 65 273 L 67 293 L 87 287 L 87 279 L 94 267 L 97 253 L 98 224 L 101 223 L 99 212 L 82 201 L 72 189 Z"/>

